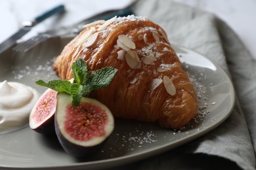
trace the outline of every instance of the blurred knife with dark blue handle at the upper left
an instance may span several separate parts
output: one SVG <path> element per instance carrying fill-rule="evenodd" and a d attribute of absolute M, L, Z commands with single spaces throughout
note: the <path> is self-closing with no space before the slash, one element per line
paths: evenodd
<path fill-rule="evenodd" d="M 14 33 L 14 35 L 12 35 L 11 37 L 9 37 L 7 40 L 5 40 L 0 44 L 0 53 L 7 50 L 9 47 L 15 44 L 15 42 L 21 37 L 23 37 L 26 33 L 28 33 L 28 31 L 30 31 L 33 26 L 49 18 L 49 16 L 52 16 L 53 14 L 56 14 L 62 11 L 64 11 L 64 5 L 58 5 L 57 7 L 54 7 L 51 10 L 47 10 L 43 14 L 35 17 L 31 21 L 22 22 L 22 27 L 16 33 Z"/>

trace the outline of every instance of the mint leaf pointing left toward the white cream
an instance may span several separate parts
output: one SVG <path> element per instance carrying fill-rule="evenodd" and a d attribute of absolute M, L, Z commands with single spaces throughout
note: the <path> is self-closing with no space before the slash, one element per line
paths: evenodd
<path fill-rule="evenodd" d="M 51 80 L 48 83 L 44 82 L 43 80 L 38 80 L 35 83 L 40 86 L 51 88 L 57 92 L 70 93 L 71 82 L 69 82 L 68 80 Z"/>

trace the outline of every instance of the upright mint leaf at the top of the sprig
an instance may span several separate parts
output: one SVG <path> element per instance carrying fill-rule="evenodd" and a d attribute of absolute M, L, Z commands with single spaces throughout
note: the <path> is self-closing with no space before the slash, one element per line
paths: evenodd
<path fill-rule="evenodd" d="M 86 62 L 81 58 L 77 59 L 72 64 L 72 73 L 74 75 L 75 82 L 78 84 L 85 84 L 88 75 Z"/>

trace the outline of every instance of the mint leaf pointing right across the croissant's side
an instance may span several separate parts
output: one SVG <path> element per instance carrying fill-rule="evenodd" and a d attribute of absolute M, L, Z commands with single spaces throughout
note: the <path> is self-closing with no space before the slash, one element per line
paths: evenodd
<path fill-rule="evenodd" d="M 113 80 L 117 69 L 113 67 L 104 67 L 102 69 L 97 70 L 91 77 L 89 78 L 89 86 L 91 86 L 91 91 L 99 88 L 105 88 L 110 84 Z M 90 91 L 90 92 L 91 92 Z"/>

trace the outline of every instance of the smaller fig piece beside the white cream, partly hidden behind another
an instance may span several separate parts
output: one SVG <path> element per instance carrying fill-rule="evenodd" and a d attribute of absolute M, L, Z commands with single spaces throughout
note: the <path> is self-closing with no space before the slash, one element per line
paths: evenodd
<path fill-rule="evenodd" d="M 47 89 L 33 106 L 30 112 L 30 128 L 34 131 L 45 135 L 54 135 L 57 93 L 50 88 Z"/>

